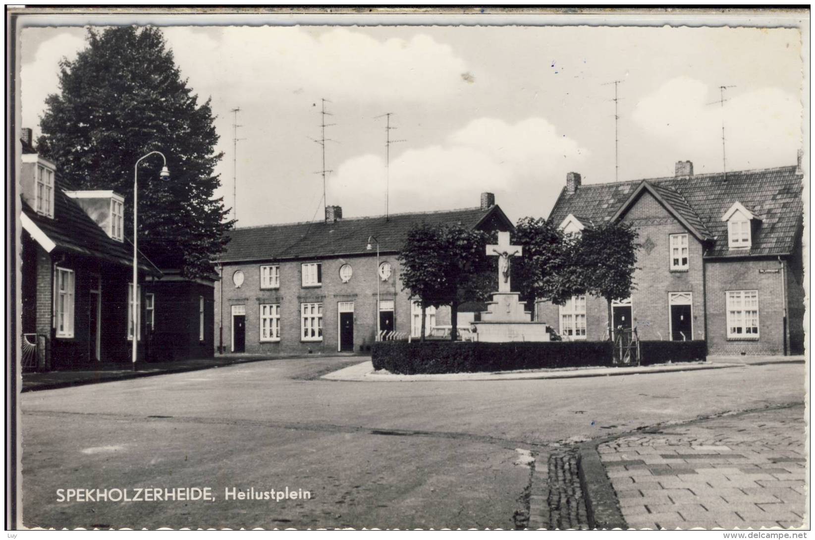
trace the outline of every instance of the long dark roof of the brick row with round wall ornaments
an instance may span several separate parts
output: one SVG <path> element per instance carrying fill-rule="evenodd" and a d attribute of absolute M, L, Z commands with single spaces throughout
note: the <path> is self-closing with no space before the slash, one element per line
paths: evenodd
<path fill-rule="evenodd" d="M 472 229 L 492 230 L 499 226 L 513 230 L 512 222 L 498 205 L 444 212 L 399 213 L 377 217 L 355 217 L 337 222 L 303 222 L 283 225 L 239 227 L 230 232 L 222 262 L 280 261 L 337 255 L 369 254 L 368 236 L 379 240 L 380 252 L 402 249 L 407 231 L 426 222 L 458 223 Z"/>

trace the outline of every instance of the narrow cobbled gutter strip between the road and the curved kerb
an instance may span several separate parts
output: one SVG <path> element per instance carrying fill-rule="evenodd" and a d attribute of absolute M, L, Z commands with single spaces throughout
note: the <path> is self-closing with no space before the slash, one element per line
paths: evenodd
<path fill-rule="evenodd" d="M 588 529 L 577 449 L 541 454 L 535 462 L 530 529 Z"/>

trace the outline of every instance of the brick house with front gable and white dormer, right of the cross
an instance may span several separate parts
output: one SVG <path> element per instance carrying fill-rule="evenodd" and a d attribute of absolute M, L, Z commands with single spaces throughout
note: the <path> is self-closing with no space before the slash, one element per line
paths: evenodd
<path fill-rule="evenodd" d="M 638 231 L 635 288 L 613 328 L 642 340 L 706 340 L 711 354 L 804 350 L 803 173 L 798 165 L 581 185 L 569 173 L 549 219 L 567 233 L 619 220 Z M 565 339 L 608 336 L 602 298 L 536 302 Z"/>

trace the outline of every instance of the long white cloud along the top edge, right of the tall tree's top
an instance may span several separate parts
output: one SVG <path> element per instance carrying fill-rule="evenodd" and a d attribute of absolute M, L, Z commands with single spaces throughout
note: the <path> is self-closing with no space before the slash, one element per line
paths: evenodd
<path fill-rule="evenodd" d="M 164 29 L 183 73 L 202 92 L 235 102 L 284 91 L 357 101 L 434 99 L 465 86 L 451 46 L 425 34 L 377 40 L 352 29 Z M 217 37 L 212 37 L 217 35 Z M 217 83 L 216 81 L 221 81 Z"/>

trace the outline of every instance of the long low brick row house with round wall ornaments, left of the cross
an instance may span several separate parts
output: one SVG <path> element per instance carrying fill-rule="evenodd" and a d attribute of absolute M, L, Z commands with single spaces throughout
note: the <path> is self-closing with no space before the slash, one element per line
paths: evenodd
<path fill-rule="evenodd" d="M 421 310 L 403 291 L 397 256 L 420 222 L 512 230 L 483 193 L 481 205 L 446 212 L 343 219 L 339 206 L 324 222 L 243 227 L 231 232 L 218 261 L 215 343 L 227 353 L 335 353 L 367 349 L 381 331 L 418 336 Z M 368 237 L 379 242 L 367 249 Z M 377 284 L 379 305 L 377 307 Z M 426 327 L 449 324 L 449 310 L 428 310 Z M 463 322 L 462 322 L 463 323 Z"/>

